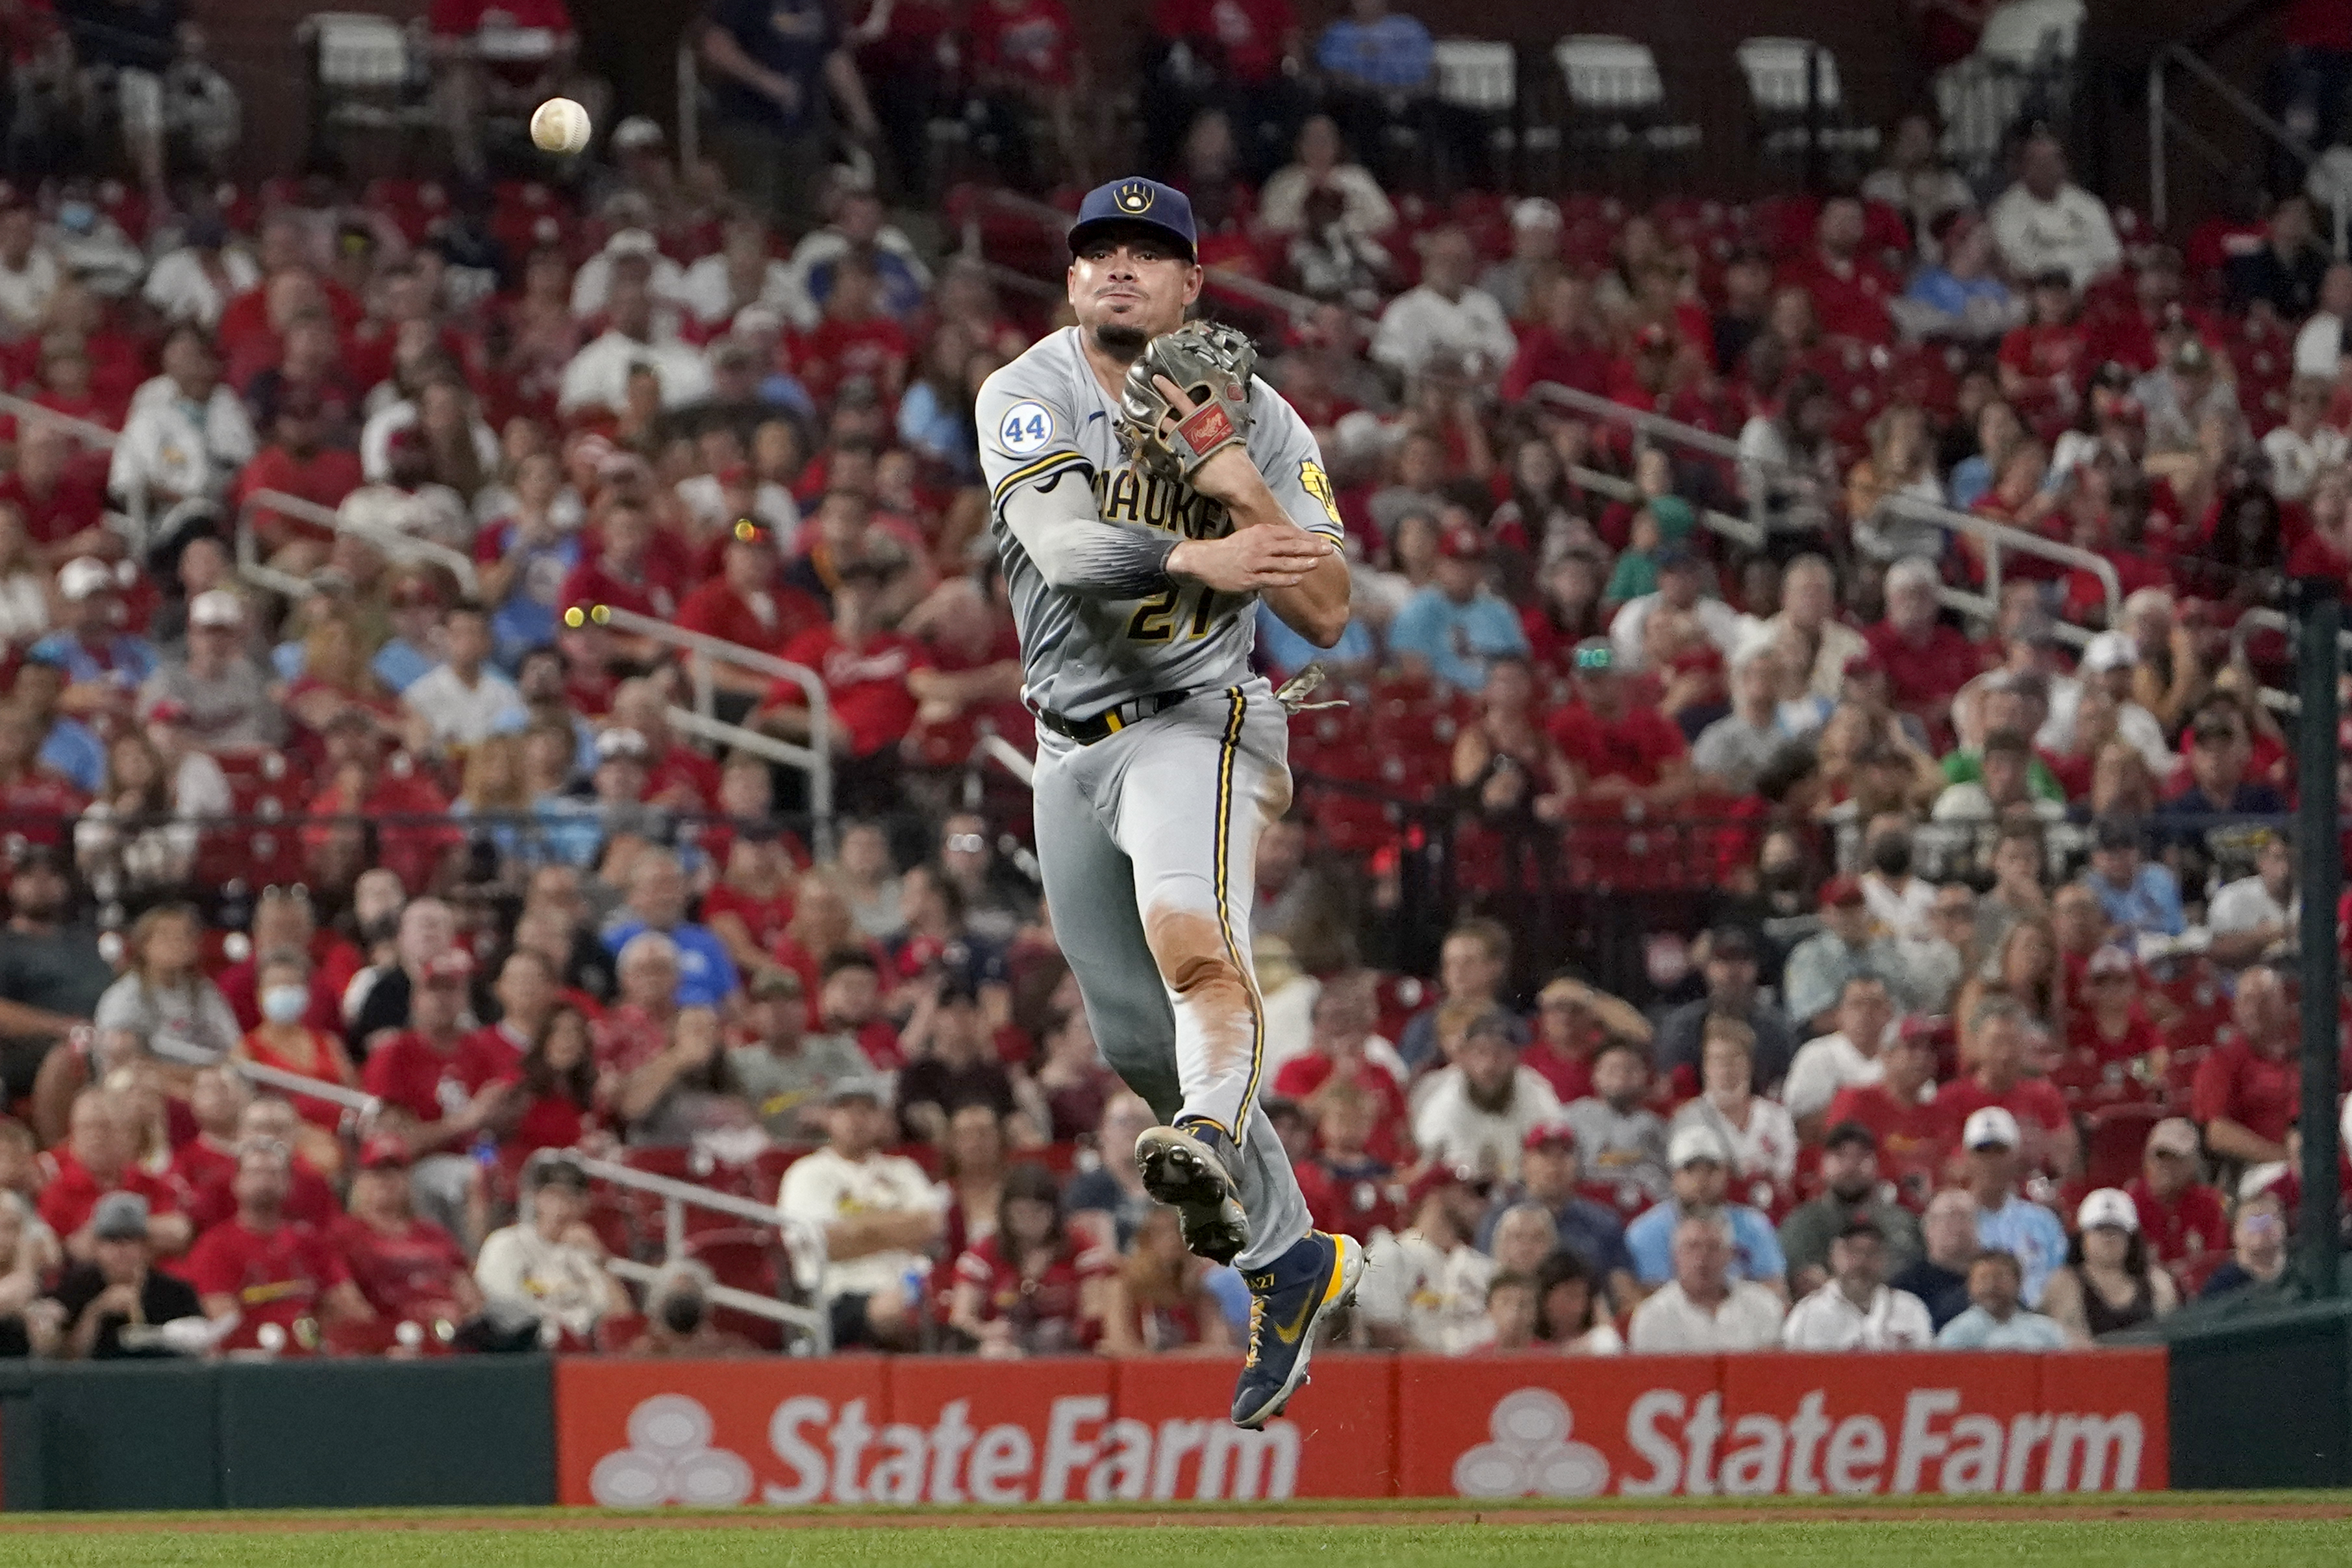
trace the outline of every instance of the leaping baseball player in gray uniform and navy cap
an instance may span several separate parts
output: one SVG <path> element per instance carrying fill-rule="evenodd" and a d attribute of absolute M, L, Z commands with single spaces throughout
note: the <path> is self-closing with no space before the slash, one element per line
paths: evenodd
<path fill-rule="evenodd" d="M 1200 296 L 1192 207 L 1122 179 L 1070 228 L 1077 327 L 981 388 L 990 529 L 1037 717 L 1037 858 L 1103 1056 L 1169 1126 L 1136 1140 L 1185 1244 L 1242 1269 L 1232 1420 L 1305 1382 L 1362 1248 L 1308 1225 L 1258 1110 L 1258 830 L 1291 804 L 1289 710 L 1249 670 L 1256 602 L 1317 646 L 1348 625 L 1338 508 L 1305 421 Z M 1108 1154 L 1108 1150 L 1105 1150 Z"/>

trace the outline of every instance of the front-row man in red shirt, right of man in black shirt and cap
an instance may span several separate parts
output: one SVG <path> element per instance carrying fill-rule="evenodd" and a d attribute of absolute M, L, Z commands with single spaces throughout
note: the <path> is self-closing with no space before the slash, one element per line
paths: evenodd
<path fill-rule="evenodd" d="M 270 1349 L 303 1345 L 320 1321 L 365 1324 L 374 1309 L 350 1284 L 350 1269 L 318 1229 L 287 1218 L 292 1154 L 285 1145 L 245 1145 L 238 1154 L 233 1192 L 238 1213 L 221 1220 L 188 1251 L 186 1276 L 205 1302 L 205 1316 L 238 1314 L 226 1349 L 263 1345 L 263 1328 L 278 1328 Z"/>

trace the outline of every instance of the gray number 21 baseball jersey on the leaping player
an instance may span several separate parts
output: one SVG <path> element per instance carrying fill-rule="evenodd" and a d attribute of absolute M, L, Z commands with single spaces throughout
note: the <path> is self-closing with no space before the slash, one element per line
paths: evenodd
<path fill-rule="evenodd" d="M 1162 588 L 1134 599 L 1056 592 L 1004 522 L 1021 487 L 1087 484 L 1094 512 L 1176 538 L 1232 531 L 1223 503 L 1145 475 L 1120 444 L 1120 409 L 1094 378 L 1068 327 L 981 386 L 981 473 L 990 531 L 1021 628 L 1030 701 L 1073 719 L 1152 691 L 1204 691 L 1249 677 L 1256 595 Z M 1249 383 L 1249 461 L 1298 527 L 1343 536 L 1322 451 L 1298 411 L 1261 378 Z"/>

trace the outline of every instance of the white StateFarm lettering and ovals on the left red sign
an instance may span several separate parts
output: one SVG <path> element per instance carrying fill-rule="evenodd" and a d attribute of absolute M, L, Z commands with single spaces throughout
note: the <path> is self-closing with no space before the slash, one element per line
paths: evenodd
<path fill-rule="evenodd" d="M 929 1425 L 875 1422 L 863 1399 L 835 1406 L 797 1394 L 767 1420 L 767 1453 L 713 1448 L 710 1410 L 654 1394 L 628 1415 L 628 1448 L 588 1474 L 604 1507 L 734 1507 L 807 1502 L 1204 1502 L 1284 1500 L 1298 1490 L 1298 1427 L 1242 1432 L 1223 1418 L 1112 1418 L 1101 1394 L 1054 1401 L 1044 1432 L 1023 1422 L 976 1427 L 953 1399 Z M 757 1469 L 755 1469 L 757 1465 Z"/>

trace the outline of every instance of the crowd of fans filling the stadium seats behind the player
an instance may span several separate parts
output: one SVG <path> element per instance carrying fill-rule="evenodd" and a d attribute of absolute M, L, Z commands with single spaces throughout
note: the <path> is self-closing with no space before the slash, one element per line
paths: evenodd
<path fill-rule="evenodd" d="M 2065 1347 L 2279 1281 L 2328 1001 L 2284 813 L 2352 788 L 2293 776 L 2244 621 L 2352 574 L 2307 197 L 2173 249 L 2046 132 L 1978 193 L 1915 118 L 1823 195 L 1435 200 L 1364 132 L 1418 21 L 1359 0 L 1317 99 L 1282 0 L 1164 9 L 1150 155 L 1204 263 L 1303 296 L 1265 374 L 1357 574 L 1254 914 L 1350 1335 Z M 981 12 L 988 134 L 1080 174 L 1068 16 Z M 811 176 L 826 94 L 920 120 L 946 7 L 800 14 L 706 45 L 734 193 L 628 118 L 569 186 L 461 120 L 449 188 L 5 195 L 0 1347 L 774 1347 L 715 1286 L 844 1347 L 1235 1345 L 974 762 L 1028 715 L 971 397 L 1061 317 Z M 447 54 L 468 115 L 572 71 Z M 1952 512 L 2013 529 L 1987 621 Z M 722 665 L 736 743 L 689 736 L 612 609 L 814 670 L 842 816 L 760 743 L 797 684 Z M 567 1150 L 774 1201 L 821 1274 L 724 1215 L 666 1255 Z"/>

